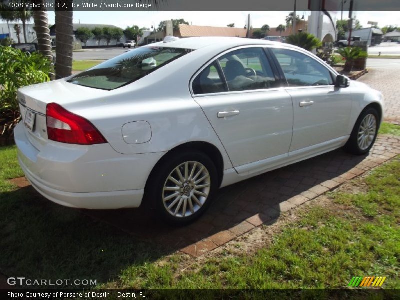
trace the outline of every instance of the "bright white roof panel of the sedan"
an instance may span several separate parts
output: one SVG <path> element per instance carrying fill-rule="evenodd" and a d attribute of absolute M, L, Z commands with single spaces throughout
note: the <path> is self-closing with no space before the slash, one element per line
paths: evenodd
<path fill-rule="evenodd" d="M 211 45 L 219 45 L 221 49 L 241 46 L 241 45 L 282 45 L 280 42 L 275 42 L 271 40 L 261 40 L 261 39 L 252 39 L 252 38 L 241 38 L 241 37 L 217 37 L 217 36 L 208 36 L 208 37 L 186 37 L 179 38 L 175 40 L 171 40 L 168 42 L 155 42 L 152 44 L 146 45 L 147 47 L 171 47 L 171 48 L 184 48 L 184 49 L 193 49 L 197 50 L 200 48 L 204 48 Z M 284 44 L 287 46 L 287 44 Z"/>

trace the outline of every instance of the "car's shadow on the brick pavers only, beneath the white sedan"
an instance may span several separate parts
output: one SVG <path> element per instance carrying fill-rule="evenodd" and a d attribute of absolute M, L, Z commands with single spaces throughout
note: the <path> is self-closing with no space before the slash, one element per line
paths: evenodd
<path fill-rule="evenodd" d="M 282 202 L 300 194 L 306 197 L 316 196 L 309 189 L 340 176 L 364 158 L 365 156 L 350 155 L 338 149 L 222 188 L 209 209 L 197 221 L 184 227 L 165 224 L 154 210 L 143 204 L 136 209 L 82 212 L 112 224 L 140 240 L 169 248 L 170 251 L 182 249 L 209 237 L 219 246 L 223 240 L 229 240 L 229 237 L 238 236 L 254 225 L 257 226 L 257 222 L 274 223 L 281 213 Z M 286 210 L 291 207 L 283 208 Z M 254 215 L 257 218 L 253 222 L 246 221 Z M 225 232 L 225 236 L 215 237 L 215 234 L 223 231 L 229 232 Z M 212 248 L 212 245 L 208 247 Z"/>

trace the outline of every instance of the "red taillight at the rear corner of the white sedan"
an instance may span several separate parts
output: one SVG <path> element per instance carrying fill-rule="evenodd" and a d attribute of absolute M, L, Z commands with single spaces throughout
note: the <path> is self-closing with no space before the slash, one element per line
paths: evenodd
<path fill-rule="evenodd" d="M 107 142 L 92 123 L 56 103 L 47 104 L 46 116 L 50 140 L 81 145 Z"/>

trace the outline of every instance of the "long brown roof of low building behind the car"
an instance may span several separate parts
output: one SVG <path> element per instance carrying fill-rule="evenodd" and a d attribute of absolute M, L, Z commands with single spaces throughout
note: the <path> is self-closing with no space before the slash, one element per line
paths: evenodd
<path fill-rule="evenodd" d="M 179 25 L 181 37 L 197 37 L 197 36 L 230 36 L 230 37 L 246 37 L 247 29 L 230 28 L 230 27 L 211 27 L 211 26 L 193 26 Z"/>

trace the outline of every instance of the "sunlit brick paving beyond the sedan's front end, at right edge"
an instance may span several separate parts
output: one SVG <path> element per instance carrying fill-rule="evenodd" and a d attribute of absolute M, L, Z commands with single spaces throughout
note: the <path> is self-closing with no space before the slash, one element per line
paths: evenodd
<path fill-rule="evenodd" d="M 390 60 L 390 59 L 386 59 Z M 400 68 L 372 68 L 358 79 L 383 93 L 385 121 L 400 125 Z"/>

